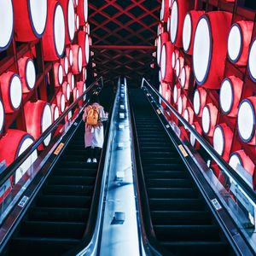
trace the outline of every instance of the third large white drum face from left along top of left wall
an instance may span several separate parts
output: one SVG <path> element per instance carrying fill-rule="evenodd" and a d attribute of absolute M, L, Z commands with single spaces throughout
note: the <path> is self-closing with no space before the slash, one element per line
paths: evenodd
<path fill-rule="evenodd" d="M 65 19 L 59 3 L 57 3 L 54 15 L 54 39 L 56 52 L 61 56 L 65 48 Z"/>

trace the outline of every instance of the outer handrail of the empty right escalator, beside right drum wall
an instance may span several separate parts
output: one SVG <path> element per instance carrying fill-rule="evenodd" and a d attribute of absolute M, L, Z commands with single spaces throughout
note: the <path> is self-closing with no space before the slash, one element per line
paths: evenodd
<path fill-rule="evenodd" d="M 179 113 L 177 113 L 177 110 L 173 108 L 163 96 L 160 95 L 159 91 L 155 90 L 155 88 L 151 84 L 149 84 L 148 81 L 144 78 L 142 80 L 142 89 L 143 87 L 146 88 L 146 86 L 144 85 L 145 83 L 150 90 L 153 90 L 154 93 L 160 97 L 161 101 L 166 104 L 166 107 L 172 111 L 172 113 L 187 128 L 187 130 L 189 130 L 189 132 L 193 134 L 193 136 L 197 139 L 201 146 L 206 149 L 207 153 L 212 157 L 212 159 L 218 163 L 218 166 L 222 168 L 224 172 L 228 173 L 228 175 L 232 177 L 232 179 L 234 179 L 237 184 L 239 184 L 241 189 L 246 193 L 246 195 L 250 198 L 253 204 L 256 204 L 255 191 L 239 176 L 239 174 L 233 171 L 231 166 L 222 159 L 222 157 L 215 151 L 214 148 L 212 148 L 212 145 L 208 143 L 203 137 L 201 137 L 201 135 L 197 131 L 195 131 L 193 126 L 190 125 L 187 120 L 183 119 L 183 117 Z"/>

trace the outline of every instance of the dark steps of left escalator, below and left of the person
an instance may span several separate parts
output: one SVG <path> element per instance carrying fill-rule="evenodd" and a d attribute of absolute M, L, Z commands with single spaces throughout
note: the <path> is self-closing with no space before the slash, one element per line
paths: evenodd
<path fill-rule="evenodd" d="M 87 227 L 98 169 L 85 160 L 81 122 L 4 255 L 61 255 L 79 244 Z"/>

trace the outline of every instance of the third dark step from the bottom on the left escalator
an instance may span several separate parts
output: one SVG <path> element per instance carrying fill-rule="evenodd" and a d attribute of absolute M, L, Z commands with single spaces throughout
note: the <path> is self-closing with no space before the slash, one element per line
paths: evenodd
<path fill-rule="evenodd" d="M 88 219 L 89 212 L 89 208 L 32 207 L 28 219 L 83 222 L 85 219 Z"/>

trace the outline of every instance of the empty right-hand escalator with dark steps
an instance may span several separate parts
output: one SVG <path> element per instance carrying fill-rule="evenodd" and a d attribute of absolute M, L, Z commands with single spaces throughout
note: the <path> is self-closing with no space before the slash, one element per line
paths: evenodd
<path fill-rule="evenodd" d="M 164 255 L 233 255 L 143 91 L 131 91 L 130 102 L 139 151 L 137 160 L 141 161 L 141 167 L 137 167 L 141 170 L 139 189 L 146 197 L 141 198 L 143 222 L 149 241 Z"/>

